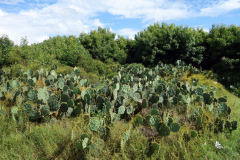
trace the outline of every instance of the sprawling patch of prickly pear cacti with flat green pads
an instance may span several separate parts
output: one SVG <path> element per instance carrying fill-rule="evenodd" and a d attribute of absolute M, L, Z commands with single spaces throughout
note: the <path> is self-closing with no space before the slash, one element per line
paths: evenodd
<path fill-rule="evenodd" d="M 57 66 L 53 68 L 57 69 Z M 201 126 L 208 123 L 204 118 L 206 112 L 212 115 L 211 128 L 215 132 L 236 130 L 237 122 L 229 121 L 231 108 L 227 105 L 227 97 L 216 99 L 215 89 L 207 90 L 197 79 L 182 82 L 187 70 L 204 74 L 181 61 L 175 66 L 160 63 L 152 69 L 125 65 L 118 68 L 118 75 L 112 80 L 104 80 L 101 84 L 90 84 L 87 79 L 81 79 L 77 67 L 66 75 L 58 75 L 55 70 L 44 72 L 40 69 L 35 74 L 32 70 L 20 70 L 19 77 L 14 79 L 9 79 L 7 72 L 1 70 L 0 100 L 13 105 L 10 114 L 15 121 L 24 119 L 25 115 L 31 121 L 39 121 L 47 120 L 46 117 L 61 119 L 85 114 L 85 123 L 90 131 L 99 135 L 99 140 L 93 142 L 91 137 L 83 136 L 76 143 L 79 150 L 95 150 L 102 146 L 101 139 L 106 140 L 109 135 L 106 125 L 121 119 L 134 118 L 135 125 L 155 127 L 160 136 L 178 132 L 181 124 L 168 114 L 169 110 L 181 110 L 189 121 L 197 122 L 200 127 L 186 133 L 191 138 L 195 138 Z M 0 115 L 6 115 L 3 108 Z M 138 114 L 145 109 L 150 110 L 148 115 Z M 98 113 L 105 118 L 94 116 Z M 127 131 L 122 138 L 123 146 L 129 137 L 130 131 Z M 151 148 L 154 152 L 158 145 L 152 144 Z"/>

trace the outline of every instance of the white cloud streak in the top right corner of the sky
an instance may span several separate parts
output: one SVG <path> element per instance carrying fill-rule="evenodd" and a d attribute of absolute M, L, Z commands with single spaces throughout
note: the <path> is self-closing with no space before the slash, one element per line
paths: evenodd
<path fill-rule="evenodd" d="M 240 0 L 221 0 L 201 9 L 200 16 L 215 17 L 240 8 Z"/>

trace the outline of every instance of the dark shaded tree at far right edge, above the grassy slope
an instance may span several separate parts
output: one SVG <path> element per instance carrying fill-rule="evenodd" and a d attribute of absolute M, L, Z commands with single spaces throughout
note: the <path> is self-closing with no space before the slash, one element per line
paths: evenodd
<path fill-rule="evenodd" d="M 240 27 L 213 25 L 207 37 L 206 61 L 202 65 L 219 75 L 221 83 L 240 96 Z"/>

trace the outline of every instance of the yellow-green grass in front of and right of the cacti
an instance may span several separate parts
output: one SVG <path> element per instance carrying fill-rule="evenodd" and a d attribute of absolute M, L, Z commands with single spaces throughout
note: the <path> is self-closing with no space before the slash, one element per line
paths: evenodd
<path fill-rule="evenodd" d="M 186 78 L 186 77 L 185 77 Z M 228 97 L 232 109 L 231 120 L 239 121 L 240 99 L 229 93 L 219 83 L 202 75 L 192 75 L 206 86 L 217 88 L 215 96 Z M 82 117 L 66 119 L 53 124 L 26 124 L 19 127 L 10 120 L 0 122 L 0 159 L 94 159 L 91 153 L 84 155 L 75 149 L 75 143 L 82 133 L 90 131 L 82 123 Z M 18 128 L 18 129 L 16 129 Z M 184 143 L 180 133 L 171 133 L 166 138 L 147 139 L 136 128 L 124 150 L 120 150 L 121 135 L 129 129 L 129 124 L 119 122 L 111 127 L 111 136 L 100 151 L 100 159 L 239 159 L 240 129 L 233 131 L 229 138 L 224 134 L 214 136 L 205 133 L 199 138 Z M 177 138 L 178 137 L 178 138 Z M 93 139 L 96 137 L 94 136 Z M 224 149 L 214 145 L 219 141 Z M 150 157 L 149 143 L 158 142 L 160 149 Z M 206 145 L 203 145 L 206 143 Z"/>

